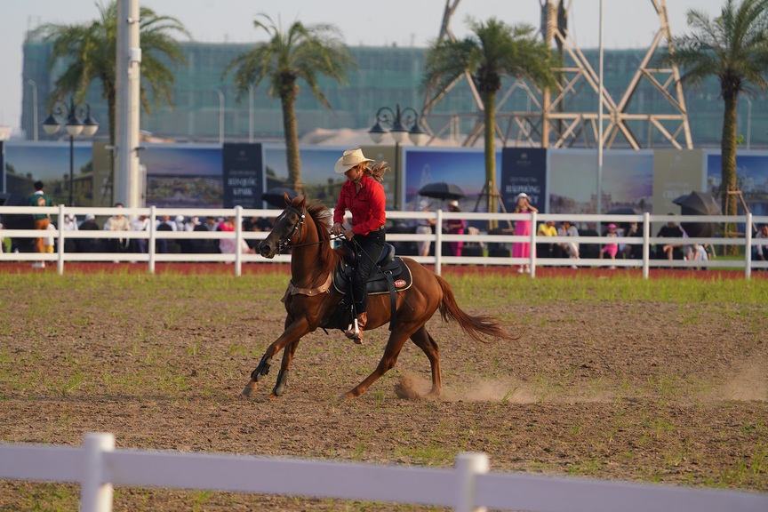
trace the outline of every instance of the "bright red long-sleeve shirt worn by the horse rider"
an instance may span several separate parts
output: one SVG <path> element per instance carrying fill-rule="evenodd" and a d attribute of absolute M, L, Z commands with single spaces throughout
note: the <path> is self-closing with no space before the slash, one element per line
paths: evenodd
<path fill-rule="evenodd" d="M 384 187 L 365 174 L 360 180 L 360 190 L 355 190 L 355 183 L 346 180 L 341 186 L 339 202 L 333 212 L 333 222 L 344 221 L 344 213 L 352 213 L 352 231 L 356 235 L 367 235 L 381 228 L 387 220 L 385 207 L 387 197 Z"/>

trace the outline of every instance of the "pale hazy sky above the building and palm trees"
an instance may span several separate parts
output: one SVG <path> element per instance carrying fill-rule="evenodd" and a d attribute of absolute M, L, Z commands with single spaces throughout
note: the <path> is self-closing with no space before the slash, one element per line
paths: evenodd
<path fill-rule="evenodd" d="M 257 14 L 266 13 L 283 27 L 293 20 L 304 24 L 332 23 L 351 46 L 427 47 L 440 33 L 446 0 L 139 0 L 161 15 L 179 19 L 194 39 L 204 43 L 257 42 L 263 31 L 253 28 Z M 463 0 L 450 27 L 466 36 L 468 16 L 496 17 L 510 25 L 540 25 L 543 0 Z M 662 0 L 663 2 L 664 0 Z M 99 16 L 97 4 L 108 0 L 0 0 L 0 126 L 17 130 L 21 116 L 22 44 L 27 30 L 42 23 L 87 23 Z M 450 0 L 451 4 L 456 0 Z M 685 13 L 692 8 L 710 16 L 725 0 L 667 0 L 673 34 L 688 31 Z M 601 0 L 571 0 L 569 28 L 581 49 L 599 44 Z M 602 0 L 604 47 L 647 48 L 659 29 L 652 0 Z M 42 102 L 42 99 L 40 99 Z"/>

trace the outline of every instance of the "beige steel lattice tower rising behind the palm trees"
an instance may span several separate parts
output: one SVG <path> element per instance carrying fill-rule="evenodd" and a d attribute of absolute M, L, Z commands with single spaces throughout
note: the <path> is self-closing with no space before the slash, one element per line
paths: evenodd
<path fill-rule="evenodd" d="M 451 20 L 459 6 L 460 0 L 446 0 L 443 22 L 439 38 L 448 37 L 455 40 L 451 30 Z M 563 68 L 558 71 L 562 76 L 556 91 L 541 92 L 523 79 L 513 81 L 506 91 L 500 93 L 496 105 L 497 125 L 495 132 L 504 146 L 516 145 L 525 147 L 564 148 L 592 147 L 597 144 L 598 105 L 600 77 L 589 64 L 584 53 L 576 44 L 568 31 L 569 13 L 574 8 L 573 0 L 539 0 L 541 6 L 541 35 L 551 46 L 556 46 L 560 54 Z M 652 147 L 653 140 L 659 137 L 666 140 L 674 148 L 692 148 L 691 129 L 685 109 L 683 87 L 680 84 L 680 73 L 675 66 L 669 68 L 653 67 L 653 57 L 665 42 L 671 47 L 671 31 L 667 16 L 665 0 L 651 0 L 652 8 L 659 18 L 659 30 L 653 37 L 652 44 L 637 66 L 626 91 L 620 100 L 614 100 L 612 94 L 603 88 L 604 148 L 612 148 L 619 141 L 629 148 Z M 462 146 L 473 146 L 483 135 L 483 102 L 477 92 L 471 76 L 467 73 L 461 76 L 443 91 L 428 89 L 426 92 L 423 115 L 427 116 L 432 109 L 444 99 L 460 82 L 468 84 L 475 102 L 476 112 L 471 114 L 454 114 L 444 126 L 433 129 L 435 136 L 443 136 L 446 132 L 456 134 L 461 119 L 472 118 L 475 125 L 461 140 Z M 634 111 L 633 97 L 641 84 L 651 84 L 652 90 L 666 100 L 664 112 Z M 528 108 L 524 111 L 505 110 L 513 94 L 523 93 L 526 96 Z M 569 110 L 569 103 L 577 96 L 588 95 L 594 99 L 594 110 Z M 664 102 L 662 101 L 662 104 Z M 583 104 L 583 102 L 582 102 Z M 436 116 L 432 116 L 433 121 Z M 647 140 L 633 131 L 630 123 L 637 125 L 644 122 L 648 127 Z M 426 124 L 426 123 L 425 123 Z"/>

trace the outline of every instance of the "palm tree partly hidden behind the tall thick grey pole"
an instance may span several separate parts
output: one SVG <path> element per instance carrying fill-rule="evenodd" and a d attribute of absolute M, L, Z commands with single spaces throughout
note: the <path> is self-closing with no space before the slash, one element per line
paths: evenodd
<path fill-rule="evenodd" d="M 101 97 L 107 102 L 109 140 L 115 143 L 116 106 L 116 37 L 117 4 L 97 4 L 100 19 L 76 25 L 45 24 L 37 28 L 36 35 L 52 42 L 49 67 L 59 60 L 67 63 L 64 73 L 54 84 L 51 100 L 74 94 L 79 103 L 84 100 L 88 87 L 98 80 Z M 140 7 L 141 89 L 140 101 L 151 115 L 153 106 L 161 102 L 172 103 L 173 65 L 186 63 L 181 45 L 172 35 L 189 36 L 184 25 L 169 16 L 158 16 L 148 7 Z M 154 101 L 149 100 L 148 90 Z"/>

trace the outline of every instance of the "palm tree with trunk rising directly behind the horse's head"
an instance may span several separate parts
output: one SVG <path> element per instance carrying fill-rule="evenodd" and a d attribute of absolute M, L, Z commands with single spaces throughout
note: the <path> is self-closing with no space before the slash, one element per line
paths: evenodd
<path fill-rule="evenodd" d="M 249 52 L 236 57 L 224 70 L 222 78 L 236 69 L 234 79 L 238 100 L 249 87 L 257 87 L 262 81 L 269 84 L 269 95 L 279 98 L 283 108 L 285 153 L 288 165 L 287 187 L 303 191 L 299 158 L 299 131 L 296 124 L 295 102 L 299 95 L 298 82 L 303 80 L 317 100 L 325 108 L 331 104 L 317 83 L 319 76 L 330 76 L 339 84 L 347 82 L 348 69 L 356 63 L 343 43 L 338 28 L 328 24 L 305 27 L 294 21 L 282 32 L 266 15 L 264 20 L 254 20 L 253 25 L 263 28 L 268 35 L 267 43 L 257 44 Z"/>

